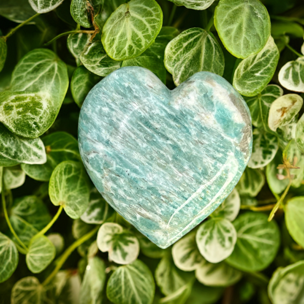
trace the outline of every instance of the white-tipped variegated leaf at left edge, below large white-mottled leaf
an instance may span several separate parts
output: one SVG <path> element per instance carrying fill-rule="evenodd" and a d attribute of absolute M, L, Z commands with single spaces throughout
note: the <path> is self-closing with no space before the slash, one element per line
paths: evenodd
<path fill-rule="evenodd" d="M 47 161 L 40 138 L 19 137 L 0 123 L 0 165 L 15 166 L 19 163 L 44 164 Z"/>

